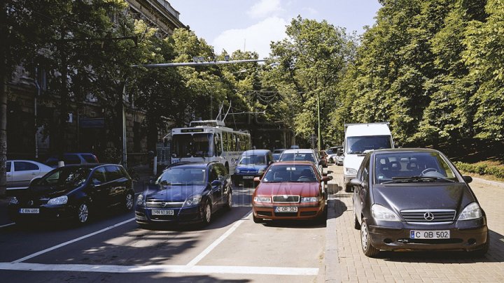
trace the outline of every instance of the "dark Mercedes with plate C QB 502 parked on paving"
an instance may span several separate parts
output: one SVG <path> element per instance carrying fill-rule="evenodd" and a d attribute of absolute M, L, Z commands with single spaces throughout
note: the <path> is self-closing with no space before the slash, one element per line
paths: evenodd
<path fill-rule="evenodd" d="M 364 254 L 404 249 L 485 254 L 489 230 L 471 181 L 437 150 L 367 153 L 350 181 Z"/>

